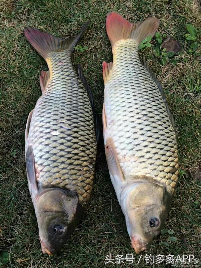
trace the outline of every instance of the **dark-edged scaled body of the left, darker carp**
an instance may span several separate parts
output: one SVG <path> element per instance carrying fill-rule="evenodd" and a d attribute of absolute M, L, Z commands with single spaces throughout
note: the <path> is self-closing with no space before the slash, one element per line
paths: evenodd
<path fill-rule="evenodd" d="M 68 50 L 51 51 L 50 76 L 32 114 L 26 150 L 33 148 L 39 188 L 76 192 L 84 204 L 92 191 L 96 136 L 88 93 Z"/>

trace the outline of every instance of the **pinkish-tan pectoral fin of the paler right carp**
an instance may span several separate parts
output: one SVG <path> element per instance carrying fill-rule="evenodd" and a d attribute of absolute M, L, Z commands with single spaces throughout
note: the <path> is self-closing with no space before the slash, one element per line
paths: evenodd
<path fill-rule="evenodd" d="M 107 138 L 105 144 L 105 155 L 108 163 L 109 172 L 113 177 L 118 177 L 124 181 L 124 175 L 117 159 L 114 142 L 112 138 Z"/>

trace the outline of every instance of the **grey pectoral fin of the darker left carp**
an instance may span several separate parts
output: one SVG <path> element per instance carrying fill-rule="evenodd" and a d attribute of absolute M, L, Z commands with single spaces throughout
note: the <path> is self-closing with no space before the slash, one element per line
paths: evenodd
<path fill-rule="evenodd" d="M 26 151 L 26 169 L 27 169 L 27 178 L 28 178 L 28 185 L 31 195 L 34 196 L 38 192 L 38 186 L 36 181 L 36 172 L 34 166 L 34 155 L 33 155 L 33 148 L 32 146 L 28 146 Z"/>

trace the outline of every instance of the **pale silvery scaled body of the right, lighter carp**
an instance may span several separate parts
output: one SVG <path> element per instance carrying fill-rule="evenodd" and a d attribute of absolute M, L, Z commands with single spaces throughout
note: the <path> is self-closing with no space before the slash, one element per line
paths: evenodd
<path fill-rule="evenodd" d="M 138 45 L 119 40 L 113 68 L 105 83 L 107 137 L 113 138 L 126 181 L 142 179 L 165 185 L 174 193 L 178 181 L 176 135 L 163 97 L 142 66 Z"/>

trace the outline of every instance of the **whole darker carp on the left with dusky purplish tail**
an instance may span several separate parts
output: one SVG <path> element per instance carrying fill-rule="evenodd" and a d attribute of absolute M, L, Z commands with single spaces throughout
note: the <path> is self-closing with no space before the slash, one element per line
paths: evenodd
<path fill-rule="evenodd" d="M 25 155 L 41 248 L 50 255 L 79 223 L 93 186 L 99 125 L 92 92 L 71 61 L 87 26 L 70 39 L 24 30 L 49 67 L 40 75 L 42 96 L 28 116 Z"/>

